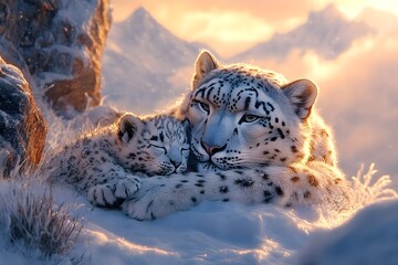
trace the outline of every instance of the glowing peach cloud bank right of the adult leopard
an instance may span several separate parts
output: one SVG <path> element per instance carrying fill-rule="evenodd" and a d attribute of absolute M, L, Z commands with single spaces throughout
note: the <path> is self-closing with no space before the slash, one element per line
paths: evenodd
<path fill-rule="evenodd" d="M 338 71 L 320 82 L 320 106 L 336 128 L 342 165 L 352 172 L 358 162 L 375 161 L 398 177 L 397 45 L 398 31 L 360 53 L 353 47 L 335 62 Z"/>

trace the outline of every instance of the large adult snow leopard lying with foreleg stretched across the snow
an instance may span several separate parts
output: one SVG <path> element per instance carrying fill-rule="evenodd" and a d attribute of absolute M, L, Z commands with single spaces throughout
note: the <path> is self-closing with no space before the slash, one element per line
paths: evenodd
<path fill-rule="evenodd" d="M 174 112 L 190 123 L 198 172 L 145 179 L 123 210 L 150 220 L 205 200 L 348 208 L 349 184 L 333 134 L 314 107 L 317 93 L 310 80 L 223 65 L 203 51 L 192 88 Z"/>

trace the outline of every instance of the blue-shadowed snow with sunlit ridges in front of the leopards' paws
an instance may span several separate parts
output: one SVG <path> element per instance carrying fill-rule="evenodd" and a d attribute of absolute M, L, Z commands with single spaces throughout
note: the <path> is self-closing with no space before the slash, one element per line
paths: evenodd
<path fill-rule="evenodd" d="M 223 202 L 205 202 L 150 222 L 130 220 L 117 210 L 80 211 L 87 224 L 78 248 L 90 242 L 90 264 L 282 264 L 317 220 L 310 209 Z"/>

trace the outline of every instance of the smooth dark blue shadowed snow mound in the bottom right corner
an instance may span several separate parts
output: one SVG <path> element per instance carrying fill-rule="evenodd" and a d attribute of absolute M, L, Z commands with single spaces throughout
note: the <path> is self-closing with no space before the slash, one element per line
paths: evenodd
<path fill-rule="evenodd" d="M 315 233 L 292 264 L 398 264 L 397 223 L 398 201 L 370 205 L 347 224 Z"/>

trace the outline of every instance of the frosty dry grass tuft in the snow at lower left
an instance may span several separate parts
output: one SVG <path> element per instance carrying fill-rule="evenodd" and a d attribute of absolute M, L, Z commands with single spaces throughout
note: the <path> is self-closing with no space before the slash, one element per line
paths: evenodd
<path fill-rule="evenodd" d="M 82 219 L 70 206 L 56 205 L 51 188 L 41 181 L 2 181 L 0 230 L 3 244 L 42 259 L 71 255 L 83 229 Z"/>

